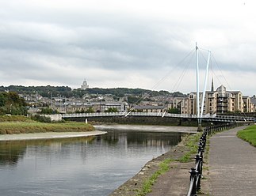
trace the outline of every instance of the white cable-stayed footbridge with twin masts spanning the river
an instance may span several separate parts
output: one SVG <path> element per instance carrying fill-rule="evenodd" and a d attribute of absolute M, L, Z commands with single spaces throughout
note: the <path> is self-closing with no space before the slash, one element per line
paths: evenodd
<path fill-rule="evenodd" d="M 212 56 L 211 51 L 208 51 L 208 58 L 206 63 L 206 69 L 205 69 L 205 76 L 204 76 L 204 90 L 203 92 L 200 92 L 199 89 L 199 55 L 198 55 L 198 47 L 196 44 L 196 65 L 197 65 L 197 93 L 196 93 L 196 106 L 195 106 L 195 114 L 170 114 L 166 111 L 164 112 L 132 112 L 133 107 L 130 108 L 130 111 L 127 112 L 98 112 L 98 113 L 80 113 L 80 114 L 62 114 L 61 118 L 63 119 L 75 119 L 75 118 L 95 118 L 95 117 L 136 117 L 136 116 L 146 116 L 146 117 L 162 117 L 162 118 L 178 118 L 178 119 L 197 119 L 198 123 L 198 129 L 201 129 L 201 122 L 202 121 L 208 121 L 208 122 L 246 122 L 246 123 L 254 123 L 255 118 L 254 117 L 247 117 L 243 113 L 240 113 L 239 115 L 217 115 L 216 113 L 210 115 L 205 114 L 205 96 L 206 96 L 206 89 L 208 85 L 208 70 L 209 70 L 209 64 L 210 59 Z M 184 75 L 184 74 L 183 74 Z M 166 77 L 166 76 L 165 76 Z M 162 82 L 162 80 L 165 78 L 163 77 L 159 82 Z M 156 85 L 155 85 L 156 87 Z M 213 89 L 213 87 L 212 87 Z M 154 90 L 154 88 L 153 88 Z M 213 91 L 213 90 L 212 90 Z M 201 94 L 200 94 L 201 93 Z M 223 92 L 221 92 L 223 93 Z M 201 99 L 200 99 L 201 96 Z M 219 97 L 218 97 L 219 98 Z M 141 98 L 143 100 L 143 97 Z M 218 103 L 221 105 L 221 107 L 227 107 L 224 105 L 224 101 L 220 100 L 221 103 Z"/>

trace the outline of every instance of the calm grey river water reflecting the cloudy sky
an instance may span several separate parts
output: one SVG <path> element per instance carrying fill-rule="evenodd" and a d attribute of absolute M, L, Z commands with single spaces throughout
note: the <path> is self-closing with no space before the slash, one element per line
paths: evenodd
<path fill-rule="evenodd" d="M 131 127 L 99 126 L 108 134 L 86 138 L 1 141 L 0 195 L 108 195 L 184 135 Z"/>

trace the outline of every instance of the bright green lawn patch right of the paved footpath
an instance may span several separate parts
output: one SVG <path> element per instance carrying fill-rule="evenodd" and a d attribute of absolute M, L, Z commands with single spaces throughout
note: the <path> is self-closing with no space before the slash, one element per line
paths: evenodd
<path fill-rule="evenodd" d="M 244 130 L 239 130 L 237 136 L 243 139 L 244 141 L 249 142 L 250 145 L 256 147 L 256 125 L 248 126 Z"/>

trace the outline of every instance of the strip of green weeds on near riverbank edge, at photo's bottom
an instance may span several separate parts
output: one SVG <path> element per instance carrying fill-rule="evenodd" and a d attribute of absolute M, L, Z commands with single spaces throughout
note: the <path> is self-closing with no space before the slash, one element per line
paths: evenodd
<path fill-rule="evenodd" d="M 139 190 L 139 192 L 138 192 L 138 194 L 136 194 L 136 196 L 144 196 L 144 195 L 150 193 L 152 191 L 151 188 L 154 185 L 156 179 L 159 178 L 159 175 L 162 175 L 165 172 L 169 171 L 170 162 L 172 162 L 172 161 L 173 161 L 172 159 L 162 160 L 162 162 L 159 165 L 159 170 L 157 172 L 155 172 L 153 175 L 151 175 L 151 177 L 143 183 L 142 189 Z"/>

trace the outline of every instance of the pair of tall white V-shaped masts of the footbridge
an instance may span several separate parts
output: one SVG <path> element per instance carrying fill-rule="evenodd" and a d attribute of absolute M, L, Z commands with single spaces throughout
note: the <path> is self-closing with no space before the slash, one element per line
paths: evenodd
<path fill-rule="evenodd" d="M 203 97 L 201 100 L 201 110 L 200 110 L 200 102 L 199 102 L 199 58 L 198 58 L 197 43 L 196 43 L 196 58 L 197 58 L 197 119 L 198 119 L 198 126 L 201 126 L 201 119 L 203 118 L 203 112 L 204 112 L 204 99 L 205 99 L 205 92 L 206 92 L 207 81 L 208 81 L 208 70 L 209 70 L 209 63 L 211 58 L 211 51 L 208 51 L 208 60 L 207 60 L 205 76 L 204 76 L 204 91 L 203 91 Z"/>

